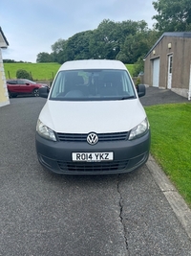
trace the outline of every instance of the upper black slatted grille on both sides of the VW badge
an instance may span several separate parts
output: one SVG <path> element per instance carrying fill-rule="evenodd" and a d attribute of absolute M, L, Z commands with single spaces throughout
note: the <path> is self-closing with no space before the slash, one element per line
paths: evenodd
<path fill-rule="evenodd" d="M 124 141 L 128 138 L 128 132 L 98 133 L 98 141 Z M 87 134 L 84 133 L 57 133 L 59 141 L 65 142 L 87 142 Z"/>

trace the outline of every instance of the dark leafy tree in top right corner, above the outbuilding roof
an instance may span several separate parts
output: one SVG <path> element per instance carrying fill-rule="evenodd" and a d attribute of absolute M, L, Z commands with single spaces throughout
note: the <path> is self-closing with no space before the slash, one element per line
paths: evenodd
<path fill-rule="evenodd" d="M 155 28 L 160 32 L 180 32 L 191 30 L 191 1 L 190 0 L 158 0 L 153 2 L 158 14 Z"/>

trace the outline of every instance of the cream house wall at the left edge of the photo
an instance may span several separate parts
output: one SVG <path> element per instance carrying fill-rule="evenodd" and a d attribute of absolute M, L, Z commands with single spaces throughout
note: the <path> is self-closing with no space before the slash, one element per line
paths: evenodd
<path fill-rule="evenodd" d="M 8 90 L 7 90 L 3 58 L 1 55 L 1 48 L 0 48 L 0 106 L 9 105 L 9 104 L 10 104 L 10 99 L 9 99 Z"/>

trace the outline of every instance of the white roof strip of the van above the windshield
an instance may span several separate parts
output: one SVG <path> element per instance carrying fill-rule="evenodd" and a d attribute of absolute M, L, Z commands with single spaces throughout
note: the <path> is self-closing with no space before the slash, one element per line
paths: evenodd
<path fill-rule="evenodd" d="M 111 59 L 81 59 L 67 61 L 61 65 L 60 70 L 76 70 L 76 69 L 123 69 L 126 66 L 119 60 Z"/>

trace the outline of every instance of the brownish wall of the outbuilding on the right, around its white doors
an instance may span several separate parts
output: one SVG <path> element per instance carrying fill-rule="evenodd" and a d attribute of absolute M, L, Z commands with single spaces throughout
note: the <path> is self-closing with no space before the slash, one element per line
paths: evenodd
<path fill-rule="evenodd" d="M 171 48 L 168 44 L 171 43 Z M 155 51 L 155 52 L 154 52 Z M 159 88 L 167 88 L 168 56 L 173 55 L 172 90 L 187 97 L 190 79 L 191 38 L 164 36 L 145 59 L 144 82 L 153 84 L 153 59 L 159 58 Z"/>

